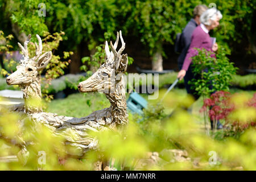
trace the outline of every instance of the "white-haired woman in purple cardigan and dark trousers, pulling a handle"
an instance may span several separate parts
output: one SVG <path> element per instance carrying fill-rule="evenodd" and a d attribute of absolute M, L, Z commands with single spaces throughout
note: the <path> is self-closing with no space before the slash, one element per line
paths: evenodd
<path fill-rule="evenodd" d="M 183 66 L 177 75 L 180 80 L 182 80 L 184 77 L 185 85 L 188 85 L 188 81 L 192 80 L 192 78 L 196 78 L 191 68 L 192 57 L 197 54 L 197 50 L 195 48 L 205 48 L 207 51 L 213 52 L 217 51 L 218 45 L 217 43 L 212 43 L 212 39 L 210 39 L 209 36 L 209 31 L 213 30 L 219 25 L 219 20 L 221 18 L 222 15 L 220 11 L 215 8 L 204 11 L 204 13 L 200 16 L 201 24 L 193 31 L 191 44 L 188 48 Z M 200 97 L 195 93 L 195 90 L 192 90 L 191 86 L 186 86 L 186 89 L 187 93 L 192 94 L 195 100 Z M 221 124 L 218 123 L 218 126 L 221 127 Z"/>

